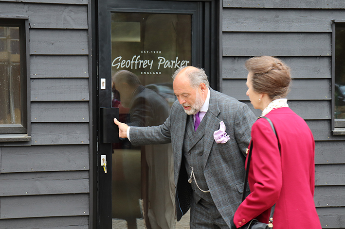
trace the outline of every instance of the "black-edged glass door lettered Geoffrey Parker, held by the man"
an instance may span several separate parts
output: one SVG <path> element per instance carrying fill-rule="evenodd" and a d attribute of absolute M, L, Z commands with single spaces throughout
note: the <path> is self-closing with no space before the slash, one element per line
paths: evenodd
<path fill-rule="evenodd" d="M 99 107 L 119 110 L 129 126 L 158 126 L 176 100 L 172 74 L 182 66 L 211 65 L 205 58 L 205 3 L 100 2 Z M 209 34 L 207 35 L 209 36 Z M 207 71 L 206 71 L 207 72 Z M 178 229 L 171 144 L 134 147 L 99 141 L 99 228 Z M 189 225 L 189 217 L 182 218 Z"/>

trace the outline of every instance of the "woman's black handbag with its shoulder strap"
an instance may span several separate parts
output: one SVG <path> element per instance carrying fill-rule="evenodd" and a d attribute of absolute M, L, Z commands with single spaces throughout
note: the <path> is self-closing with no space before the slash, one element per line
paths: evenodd
<path fill-rule="evenodd" d="M 275 129 L 274 129 L 272 121 L 268 117 L 263 116 L 263 118 L 265 118 L 270 123 L 275 136 L 277 136 L 277 133 L 275 132 Z M 277 136 L 277 139 L 278 139 L 278 136 Z M 279 147 L 279 144 L 278 144 L 278 147 Z M 249 149 L 248 156 L 247 156 L 248 160 L 247 160 L 246 176 L 245 176 L 245 179 L 244 179 L 244 189 L 243 189 L 242 201 L 246 198 L 245 190 L 247 189 L 247 180 L 248 180 L 249 165 L 250 165 L 250 162 L 251 162 L 252 150 L 253 150 L 253 141 L 251 142 L 251 147 Z M 280 152 L 280 147 L 279 147 L 279 152 Z M 241 229 L 272 229 L 273 228 L 274 208 L 275 208 L 275 204 L 271 208 L 270 220 L 269 220 L 269 222 L 267 224 L 266 223 L 261 223 L 261 222 L 257 221 L 257 219 L 252 219 L 249 223 L 247 223 L 246 225 L 242 226 Z"/>

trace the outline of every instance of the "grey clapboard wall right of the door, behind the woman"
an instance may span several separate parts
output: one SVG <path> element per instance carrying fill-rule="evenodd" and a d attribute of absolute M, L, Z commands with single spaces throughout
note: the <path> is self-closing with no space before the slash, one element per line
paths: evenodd
<path fill-rule="evenodd" d="M 245 61 L 272 55 L 291 66 L 289 105 L 315 138 L 317 212 L 323 228 L 340 229 L 345 228 L 345 136 L 331 133 L 334 19 L 345 19 L 345 1 L 223 0 L 222 91 L 253 108 L 245 94 Z"/>

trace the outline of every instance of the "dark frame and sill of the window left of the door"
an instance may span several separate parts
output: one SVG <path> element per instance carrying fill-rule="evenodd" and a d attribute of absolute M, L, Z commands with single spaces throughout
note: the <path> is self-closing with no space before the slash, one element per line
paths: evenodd
<path fill-rule="evenodd" d="M 29 17 L 0 15 L 0 19 L 1 26 L 19 27 L 20 47 L 20 113 L 22 123 L 0 126 L 0 146 L 5 146 L 8 145 L 8 142 L 31 141 Z"/>

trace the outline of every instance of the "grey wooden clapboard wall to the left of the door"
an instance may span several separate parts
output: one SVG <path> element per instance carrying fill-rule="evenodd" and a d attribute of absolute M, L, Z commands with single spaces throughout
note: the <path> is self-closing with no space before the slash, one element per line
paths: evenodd
<path fill-rule="evenodd" d="M 29 17 L 31 146 L 0 147 L 0 228 L 88 229 L 88 0 L 1 0 Z"/>

